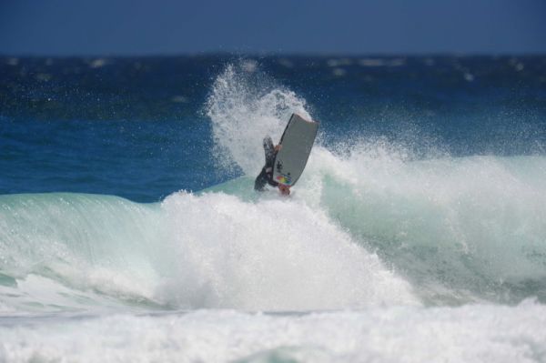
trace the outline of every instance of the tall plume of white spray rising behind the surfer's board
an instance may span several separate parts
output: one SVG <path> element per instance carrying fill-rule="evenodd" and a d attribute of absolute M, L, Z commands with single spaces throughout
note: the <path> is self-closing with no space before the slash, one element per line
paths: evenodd
<path fill-rule="evenodd" d="M 219 166 L 235 165 L 248 175 L 263 166 L 264 136 L 278 140 L 294 112 L 310 118 L 303 99 L 252 65 L 240 61 L 226 66 L 205 106 Z"/>

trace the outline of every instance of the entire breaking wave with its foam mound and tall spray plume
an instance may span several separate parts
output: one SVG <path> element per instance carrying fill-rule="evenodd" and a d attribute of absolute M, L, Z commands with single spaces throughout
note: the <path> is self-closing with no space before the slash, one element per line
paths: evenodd
<path fill-rule="evenodd" d="M 254 192 L 262 137 L 306 107 L 256 66 L 227 66 L 206 112 L 218 168 L 243 176 L 155 204 L 0 196 L 0 311 L 546 301 L 546 157 L 319 136 L 291 197 Z"/>

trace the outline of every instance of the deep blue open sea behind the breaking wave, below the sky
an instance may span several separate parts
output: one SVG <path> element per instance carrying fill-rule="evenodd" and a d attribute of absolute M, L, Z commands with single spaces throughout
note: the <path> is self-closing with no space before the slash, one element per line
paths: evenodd
<path fill-rule="evenodd" d="M 385 138 L 418 157 L 545 152 L 541 56 L 10 59 L 0 62 L 1 194 L 150 202 L 240 175 L 215 166 L 204 109 L 233 62 L 258 67 L 253 92 L 305 99 L 327 145 Z"/>

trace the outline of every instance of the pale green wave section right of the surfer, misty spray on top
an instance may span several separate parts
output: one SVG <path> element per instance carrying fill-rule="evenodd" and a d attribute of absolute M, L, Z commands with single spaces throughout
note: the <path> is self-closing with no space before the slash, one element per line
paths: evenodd
<path fill-rule="evenodd" d="M 308 200 L 425 300 L 546 298 L 546 157 L 339 159 L 318 149 L 309 169 Z"/>

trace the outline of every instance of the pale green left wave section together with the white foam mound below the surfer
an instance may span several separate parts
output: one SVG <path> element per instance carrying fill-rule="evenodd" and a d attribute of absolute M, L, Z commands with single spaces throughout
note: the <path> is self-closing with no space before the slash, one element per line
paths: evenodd
<path fill-rule="evenodd" d="M 51 194 L 1 197 L 0 205 L 4 309 L 298 310 L 419 301 L 377 255 L 299 201 L 183 193 L 139 205 Z"/>

